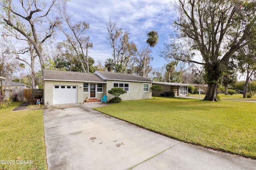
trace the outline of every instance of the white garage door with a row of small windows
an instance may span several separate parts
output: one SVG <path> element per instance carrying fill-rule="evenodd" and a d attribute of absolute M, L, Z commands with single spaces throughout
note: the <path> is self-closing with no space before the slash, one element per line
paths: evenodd
<path fill-rule="evenodd" d="M 53 104 L 77 103 L 78 86 L 53 86 Z"/>

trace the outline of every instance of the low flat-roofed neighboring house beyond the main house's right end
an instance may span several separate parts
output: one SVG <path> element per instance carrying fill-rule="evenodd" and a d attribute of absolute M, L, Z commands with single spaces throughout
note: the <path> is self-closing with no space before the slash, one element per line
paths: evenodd
<path fill-rule="evenodd" d="M 188 95 L 188 86 L 190 84 L 182 84 L 182 83 L 168 83 L 168 82 L 152 82 L 152 85 L 160 85 L 164 90 L 160 91 L 158 95 L 164 94 L 164 92 L 172 92 L 174 91 L 175 96 L 187 96 Z M 152 95 L 156 95 L 152 92 Z"/>

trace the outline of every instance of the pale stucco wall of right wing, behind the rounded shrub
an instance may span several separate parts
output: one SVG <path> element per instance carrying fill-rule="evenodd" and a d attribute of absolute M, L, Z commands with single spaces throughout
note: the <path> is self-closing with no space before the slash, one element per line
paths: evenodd
<path fill-rule="evenodd" d="M 115 80 L 108 80 L 107 81 L 107 88 L 106 88 L 106 95 L 108 96 L 108 101 L 113 98 L 111 94 L 108 93 L 108 90 L 113 88 L 114 82 L 121 82 L 121 83 L 129 83 L 129 92 L 126 94 L 122 94 L 119 96 L 122 100 L 141 100 L 141 99 L 151 99 L 152 92 L 150 87 L 152 87 L 151 82 L 126 82 L 126 81 L 115 81 Z M 143 84 L 149 84 L 149 92 L 143 92 Z"/>

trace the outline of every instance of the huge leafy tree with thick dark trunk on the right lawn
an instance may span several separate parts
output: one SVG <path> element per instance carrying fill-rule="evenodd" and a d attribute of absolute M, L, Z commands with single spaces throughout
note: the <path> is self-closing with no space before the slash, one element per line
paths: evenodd
<path fill-rule="evenodd" d="M 254 36 L 255 6 L 255 0 L 179 0 L 176 4 L 179 41 L 166 44 L 162 56 L 203 65 L 208 83 L 204 100 L 217 101 L 224 65 Z M 195 51 L 201 62 L 194 59 Z"/>

